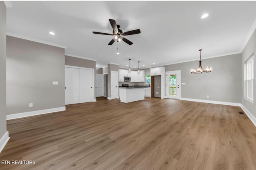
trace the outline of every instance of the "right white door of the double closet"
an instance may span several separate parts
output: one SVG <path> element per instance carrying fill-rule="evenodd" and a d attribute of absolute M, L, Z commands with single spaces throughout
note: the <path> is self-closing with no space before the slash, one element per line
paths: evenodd
<path fill-rule="evenodd" d="M 79 69 L 79 103 L 92 102 L 94 100 L 93 70 Z"/>

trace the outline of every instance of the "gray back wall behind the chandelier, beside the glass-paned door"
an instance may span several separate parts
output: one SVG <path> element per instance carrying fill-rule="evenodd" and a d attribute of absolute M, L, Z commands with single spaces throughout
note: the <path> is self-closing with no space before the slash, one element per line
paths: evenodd
<path fill-rule="evenodd" d="M 181 85 L 182 98 L 241 103 L 241 54 L 202 60 L 202 67 L 211 66 L 212 72 L 190 74 L 198 66 L 199 60 L 163 67 L 166 72 L 181 70 L 181 82 L 186 83 Z"/>

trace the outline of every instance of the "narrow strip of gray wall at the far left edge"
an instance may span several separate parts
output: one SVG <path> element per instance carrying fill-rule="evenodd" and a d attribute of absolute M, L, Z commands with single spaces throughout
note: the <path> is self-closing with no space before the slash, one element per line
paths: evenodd
<path fill-rule="evenodd" d="M 6 133 L 6 6 L 0 1 L 0 139 Z"/>

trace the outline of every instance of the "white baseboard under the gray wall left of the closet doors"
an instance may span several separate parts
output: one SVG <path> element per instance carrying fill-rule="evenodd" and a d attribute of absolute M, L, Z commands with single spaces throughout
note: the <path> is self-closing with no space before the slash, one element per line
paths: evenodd
<path fill-rule="evenodd" d="M 66 107 L 36 110 L 36 111 L 32 111 L 32 112 L 24 112 L 24 113 L 16 113 L 16 114 L 8 114 L 8 115 L 6 115 L 6 120 L 24 118 L 24 117 L 28 117 L 28 116 L 35 116 L 35 115 L 39 115 L 39 114 L 46 114 L 46 113 L 52 113 L 52 112 L 60 112 L 60 111 L 64 111 L 64 110 L 66 110 Z"/>

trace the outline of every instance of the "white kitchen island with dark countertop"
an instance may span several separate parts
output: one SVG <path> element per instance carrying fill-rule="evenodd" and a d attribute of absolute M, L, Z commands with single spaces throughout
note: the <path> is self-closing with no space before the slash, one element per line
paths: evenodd
<path fill-rule="evenodd" d="M 120 102 L 128 103 L 145 99 L 145 86 L 119 87 Z"/>

